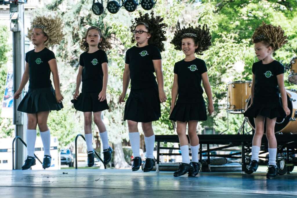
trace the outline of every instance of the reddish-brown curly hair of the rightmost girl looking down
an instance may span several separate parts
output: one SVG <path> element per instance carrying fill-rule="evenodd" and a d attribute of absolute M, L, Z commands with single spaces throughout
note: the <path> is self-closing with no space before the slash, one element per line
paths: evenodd
<path fill-rule="evenodd" d="M 288 42 L 287 38 L 285 31 L 280 26 L 267 25 L 264 22 L 255 30 L 252 36 L 254 43 L 263 42 L 266 46 L 271 46 L 274 51 L 286 44 Z"/>

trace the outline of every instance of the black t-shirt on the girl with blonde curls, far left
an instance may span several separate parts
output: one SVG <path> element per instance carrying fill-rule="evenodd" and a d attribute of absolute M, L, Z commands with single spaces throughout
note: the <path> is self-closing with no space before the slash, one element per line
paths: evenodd
<path fill-rule="evenodd" d="M 55 54 L 46 47 L 40 52 L 31 50 L 26 53 L 25 60 L 29 63 L 29 88 L 35 89 L 52 86 L 48 61 L 53 58 L 56 59 Z"/>

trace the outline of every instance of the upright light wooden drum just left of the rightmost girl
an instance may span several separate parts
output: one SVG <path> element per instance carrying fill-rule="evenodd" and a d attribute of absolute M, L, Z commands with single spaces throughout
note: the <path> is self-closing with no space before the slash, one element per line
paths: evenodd
<path fill-rule="evenodd" d="M 244 113 L 246 100 L 251 95 L 252 81 L 233 81 L 227 84 L 227 108 L 229 113 Z"/>

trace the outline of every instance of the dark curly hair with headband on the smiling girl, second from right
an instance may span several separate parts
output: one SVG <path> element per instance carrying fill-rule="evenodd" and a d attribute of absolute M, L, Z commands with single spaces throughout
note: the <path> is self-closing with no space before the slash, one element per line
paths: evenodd
<path fill-rule="evenodd" d="M 195 50 L 197 55 L 203 55 L 203 51 L 208 50 L 208 47 L 211 46 L 211 35 L 206 24 L 202 28 L 201 25 L 194 28 L 189 24 L 188 28 L 184 26 L 181 29 L 180 23 L 177 22 L 174 37 L 170 42 L 174 45 L 174 49 L 181 50 L 181 40 L 184 38 L 192 38 L 195 45 L 198 45 L 198 48 Z"/>

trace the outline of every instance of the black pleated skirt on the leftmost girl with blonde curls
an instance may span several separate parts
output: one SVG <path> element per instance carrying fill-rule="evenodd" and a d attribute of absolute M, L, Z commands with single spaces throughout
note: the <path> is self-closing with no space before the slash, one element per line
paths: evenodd
<path fill-rule="evenodd" d="M 62 102 L 56 100 L 56 93 L 53 87 L 29 88 L 18 106 L 18 111 L 25 113 L 37 113 L 41 111 L 61 110 Z"/>

